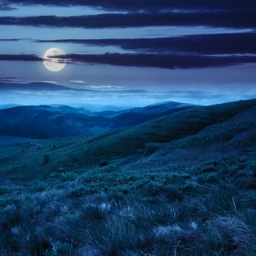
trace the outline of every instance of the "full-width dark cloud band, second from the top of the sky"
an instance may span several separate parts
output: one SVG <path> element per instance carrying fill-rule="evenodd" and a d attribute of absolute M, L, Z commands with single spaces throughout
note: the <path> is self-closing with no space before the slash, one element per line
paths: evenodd
<path fill-rule="evenodd" d="M 256 28 L 254 12 L 168 12 L 101 14 L 71 17 L 1 17 L 0 25 L 127 28 L 143 26 L 211 26 Z"/>

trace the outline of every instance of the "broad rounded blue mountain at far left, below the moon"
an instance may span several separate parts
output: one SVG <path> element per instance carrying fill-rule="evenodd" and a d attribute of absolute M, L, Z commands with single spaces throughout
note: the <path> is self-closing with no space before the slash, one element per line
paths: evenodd
<path fill-rule="evenodd" d="M 111 129 L 110 120 L 67 106 L 23 106 L 0 110 L 0 134 L 26 138 L 99 135 Z"/>

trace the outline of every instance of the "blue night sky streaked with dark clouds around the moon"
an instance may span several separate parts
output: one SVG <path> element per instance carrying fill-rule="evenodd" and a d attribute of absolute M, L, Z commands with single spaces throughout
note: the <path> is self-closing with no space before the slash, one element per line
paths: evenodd
<path fill-rule="evenodd" d="M 1 0 L 0 105 L 255 98 L 255 17 L 255 0 Z"/>

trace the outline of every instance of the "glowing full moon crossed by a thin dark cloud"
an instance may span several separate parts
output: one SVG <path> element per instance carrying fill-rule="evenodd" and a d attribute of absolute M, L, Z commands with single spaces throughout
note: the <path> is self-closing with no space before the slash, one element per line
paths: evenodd
<path fill-rule="evenodd" d="M 64 51 L 59 48 L 50 48 L 46 50 L 43 56 L 43 64 L 48 70 L 52 72 L 61 71 L 61 69 L 64 69 L 64 67 L 66 66 L 66 61 L 62 58 L 54 58 L 54 56 L 65 55 L 66 53 L 64 53 Z"/>

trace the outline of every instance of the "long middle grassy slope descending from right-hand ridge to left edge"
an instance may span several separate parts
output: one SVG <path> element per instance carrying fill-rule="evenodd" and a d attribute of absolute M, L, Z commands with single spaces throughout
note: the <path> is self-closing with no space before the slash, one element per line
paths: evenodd
<path fill-rule="evenodd" d="M 211 124 L 222 123 L 255 104 L 256 100 L 250 100 L 184 110 L 89 141 L 86 138 L 63 140 L 60 143 L 49 140 L 42 142 L 40 148 L 31 143 L 27 143 L 25 148 L 22 145 L 10 146 L 0 154 L 0 175 L 9 173 L 12 176 L 34 178 L 47 175 L 60 167 L 72 170 L 115 159 L 129 162 L 130 157 L 143 155 L 148 150 L 148 143 L 167 143 L 193 135 Z M 43 165 L 45 154 L 50 156 L 50 161 Z"/>

